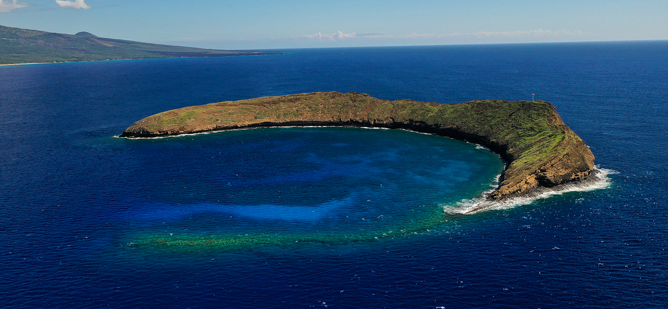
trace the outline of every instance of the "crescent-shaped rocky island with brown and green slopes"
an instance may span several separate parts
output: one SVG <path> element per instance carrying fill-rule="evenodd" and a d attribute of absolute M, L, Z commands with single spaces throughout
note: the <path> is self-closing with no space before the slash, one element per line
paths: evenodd
<path fill-rule="evenodd" d="M 307 93 L 166 111 L 137 121 L 121 137 L 289 125 L 410 129 L 484 145 L 508 162 L 492 199 L 582 180 L 594 165 L 589 147 L 564 125 L 554 106 L 542 101 L 440 104 L 387 101 L 362 93 Z"/>

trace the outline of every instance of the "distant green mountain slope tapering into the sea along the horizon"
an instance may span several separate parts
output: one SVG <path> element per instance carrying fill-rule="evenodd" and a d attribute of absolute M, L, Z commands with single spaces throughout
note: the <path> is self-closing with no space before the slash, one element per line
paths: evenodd
<path fill-rule="evenodd" d="M 226 51 L 107 39 L 88 32 L 75 35 L 0 26 L 0 65 L 281 54 L 281 51 Z"/>

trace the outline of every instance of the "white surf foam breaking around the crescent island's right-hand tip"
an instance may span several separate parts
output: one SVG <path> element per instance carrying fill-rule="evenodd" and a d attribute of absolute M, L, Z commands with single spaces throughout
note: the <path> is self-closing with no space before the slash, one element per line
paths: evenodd
<path fill-rule="evenodd" d="M 542 198 L 548 198 L 553 195 L 564 194 L 566 192 L 585 192 L 608 188 L 611 184 L 610 174 L 618 174 L 616 170 L 600 168 L 594 166 L 594 170 L 583 181 L 569 182 L 552 188 L 538 188 L 526 196 L 516 198 L 504 198 L 502 200 L 488 200 L 486 196 L 493 190 L 486 191 L 478 198 L 465 199 L 455 204 L 442 204 L 444 212 L 448 214 L 475 214 L 486 210 L 504 210 L 517 206 L 527 205 Z M 496 187 L 496 184 L 494 184 Z"/>

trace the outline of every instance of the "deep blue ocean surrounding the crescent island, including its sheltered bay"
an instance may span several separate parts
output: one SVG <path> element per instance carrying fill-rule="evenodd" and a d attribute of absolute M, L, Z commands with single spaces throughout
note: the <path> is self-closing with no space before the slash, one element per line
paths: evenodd
<path fill-rule="evenodd" d="M 0 307 L 665 308 L 666 55 L 668 41 L 643 41 L 0 67 Z M 462 141 L 355 128 L 115 137 L 168 109 L 314 91 L 535 93 L 614 172 L 605 188 L 460 216 L 503 168 Z M 276 241 L 137 245 L 246 234 Z"/>

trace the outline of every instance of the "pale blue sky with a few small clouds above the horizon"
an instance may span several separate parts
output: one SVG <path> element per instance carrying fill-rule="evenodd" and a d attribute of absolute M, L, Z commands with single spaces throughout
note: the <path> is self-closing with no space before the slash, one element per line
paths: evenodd
<path fill-rule="evenodd" d="M 0 0 L 0 25 L 212 49 L 668 39 L 667 0 Z"/>

